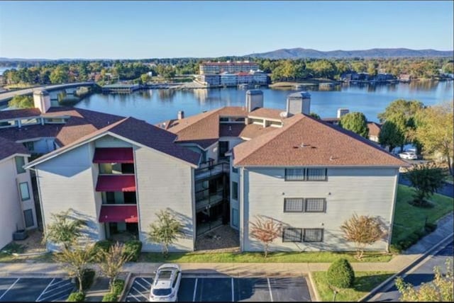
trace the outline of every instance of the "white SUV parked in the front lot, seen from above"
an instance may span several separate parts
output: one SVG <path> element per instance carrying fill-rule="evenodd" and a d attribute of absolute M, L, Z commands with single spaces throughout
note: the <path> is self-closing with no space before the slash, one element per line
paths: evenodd
<path fill-rule="evenodd" d="M 182 269 L 178 264 L 163 264 L 157 268 L 150 290 L 150 302 L 177 302 Z"/>

